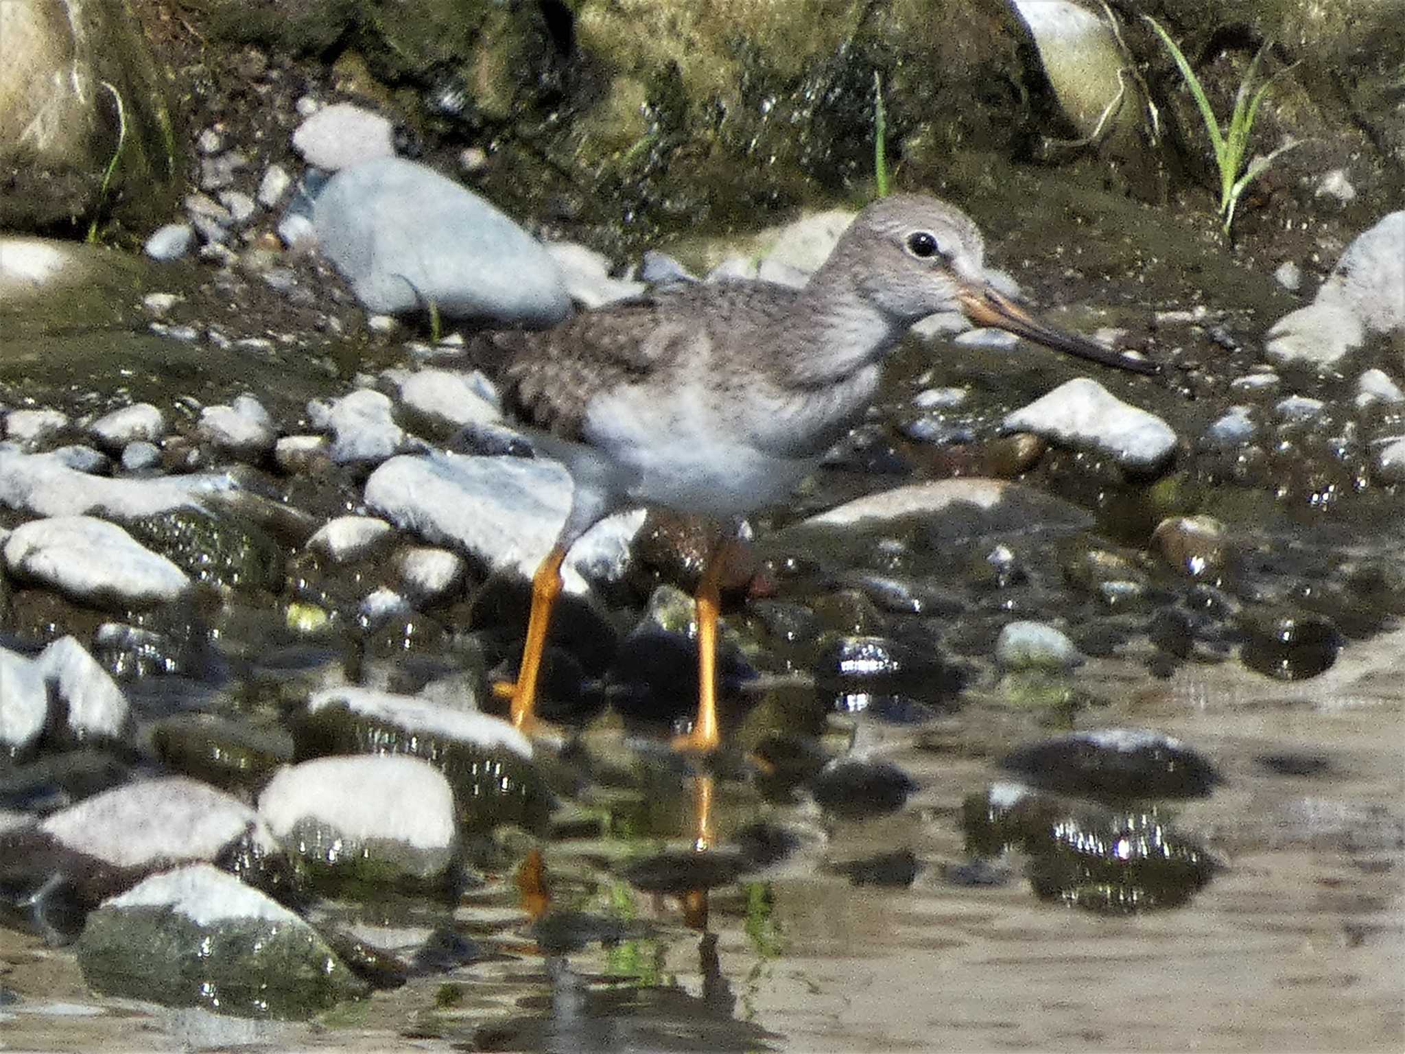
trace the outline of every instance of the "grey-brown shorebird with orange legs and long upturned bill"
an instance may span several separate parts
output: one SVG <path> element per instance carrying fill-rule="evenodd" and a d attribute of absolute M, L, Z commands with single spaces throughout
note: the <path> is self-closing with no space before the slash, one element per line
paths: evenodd
<path fill-rule="evenodd" d="M 514 725 L 538 728 L 537 682 L 561 565 L 608 513 L 658 505 L 740 523 L 774 503 L 863 416 L 884 358 L 936 312 L 962 312 L 1047 347 L 1152 374 L 1128 357 L 1037 322 L 985 277 L 975 223 L 930 197 L 899 194 L 860 212 L 799 289 L 760 281 L 680 282 L 583 312 L 549 330 L 492 334 L 506 353 L 503 398 L 541 453 L 575 483 L 565 526 L 532 576 L 531 614 L 510 696 Z M 708 752 L 717 724 L 717 547 L 697 587 L 698 708 L 680 750 Z"/>

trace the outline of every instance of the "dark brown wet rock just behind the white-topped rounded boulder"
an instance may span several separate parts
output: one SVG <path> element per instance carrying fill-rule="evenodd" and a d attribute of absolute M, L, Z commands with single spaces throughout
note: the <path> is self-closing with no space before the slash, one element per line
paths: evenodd
<path fill-rule="evenodd" d="M 150 728 L 152 749 L 169 769 L 226 790 L 251 791 L 292 760 L 292 736 L 215 714 L 173 714 Z"/>

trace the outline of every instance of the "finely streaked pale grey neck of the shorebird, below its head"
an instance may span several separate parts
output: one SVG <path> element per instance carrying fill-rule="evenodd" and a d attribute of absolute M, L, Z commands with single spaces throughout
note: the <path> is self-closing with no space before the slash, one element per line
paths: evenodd
<path fill-rule="evenodd" d="M 785 330 L 776 334 L 780 346 L 792 349 L 776 358 L 780 379 L 795 388 L 853 377 L 888 354 L 908 329 L 864 298 L 849 275 L 829 267 L 811 278 L 777 325 Z"/>

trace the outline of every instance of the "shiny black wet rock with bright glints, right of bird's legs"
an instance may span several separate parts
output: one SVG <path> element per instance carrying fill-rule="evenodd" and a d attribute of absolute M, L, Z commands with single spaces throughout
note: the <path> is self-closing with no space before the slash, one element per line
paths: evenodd
<path fill-rule="evenodd" d="M 964 683 L 964 672 L 947 663 L 924 634 L 822 638 L 812 669 L 816 697 L 826 705 L 891 718 L 901 718 L 913 703 L 923 711 L 953 705 Z"/>

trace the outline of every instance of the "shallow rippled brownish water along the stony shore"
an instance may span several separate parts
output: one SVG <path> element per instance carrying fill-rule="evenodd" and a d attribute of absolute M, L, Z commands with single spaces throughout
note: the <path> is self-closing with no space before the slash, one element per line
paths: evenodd
<path fill-rule="evenodd" d="M 1225 870 L 1179 909 L 1099 915 L 1009 883 L 958 887 L 962 800 L 1031 718 L 971 708 L 871 728 L 920 784 L 894 816 L 830 828 L 826 860 L 902 846 L 910 888 L 854 887 L 801 854 L 711 895 L 707 930 L 677 901 L 599 885 L 593 845 L 554 843 L 556 901 L 648 923 L 648 936 L 547 956 L 510 876 L 468 895 L 461 933 L 497 960 L 413 980 L 318 1024 L 218 1019 L 96 999 L 70 953 L 0 930 L 0 1041 L 37 1050 L 266 1044 L 320 1050 L 1399 1050 L 1405 1039 L 1405 630 L 1349 646 L 1326 675 L 1276 683 L 1232 665 L 1151 682 L 1121 661 L 1083 672 L 1116 698 L 1102 724 L 1155 727 L 1227 783 L 1176 809 Z M 881 742 L 878 742 L 881 739 Z M 940 749 L 933 749 L 939 746 Z M 1308 776 L 1259 759 L 1322 759 Z M 681 784 L 680 784 L 681 786 Z M 667 805 L 679 805 L 673 812 Z M 686 802 L 669 802 L 687 826 Z M 745 795 L 718 794 L 724 836 Z M 680 831 L 680 836 L 686 832 Z"/>

